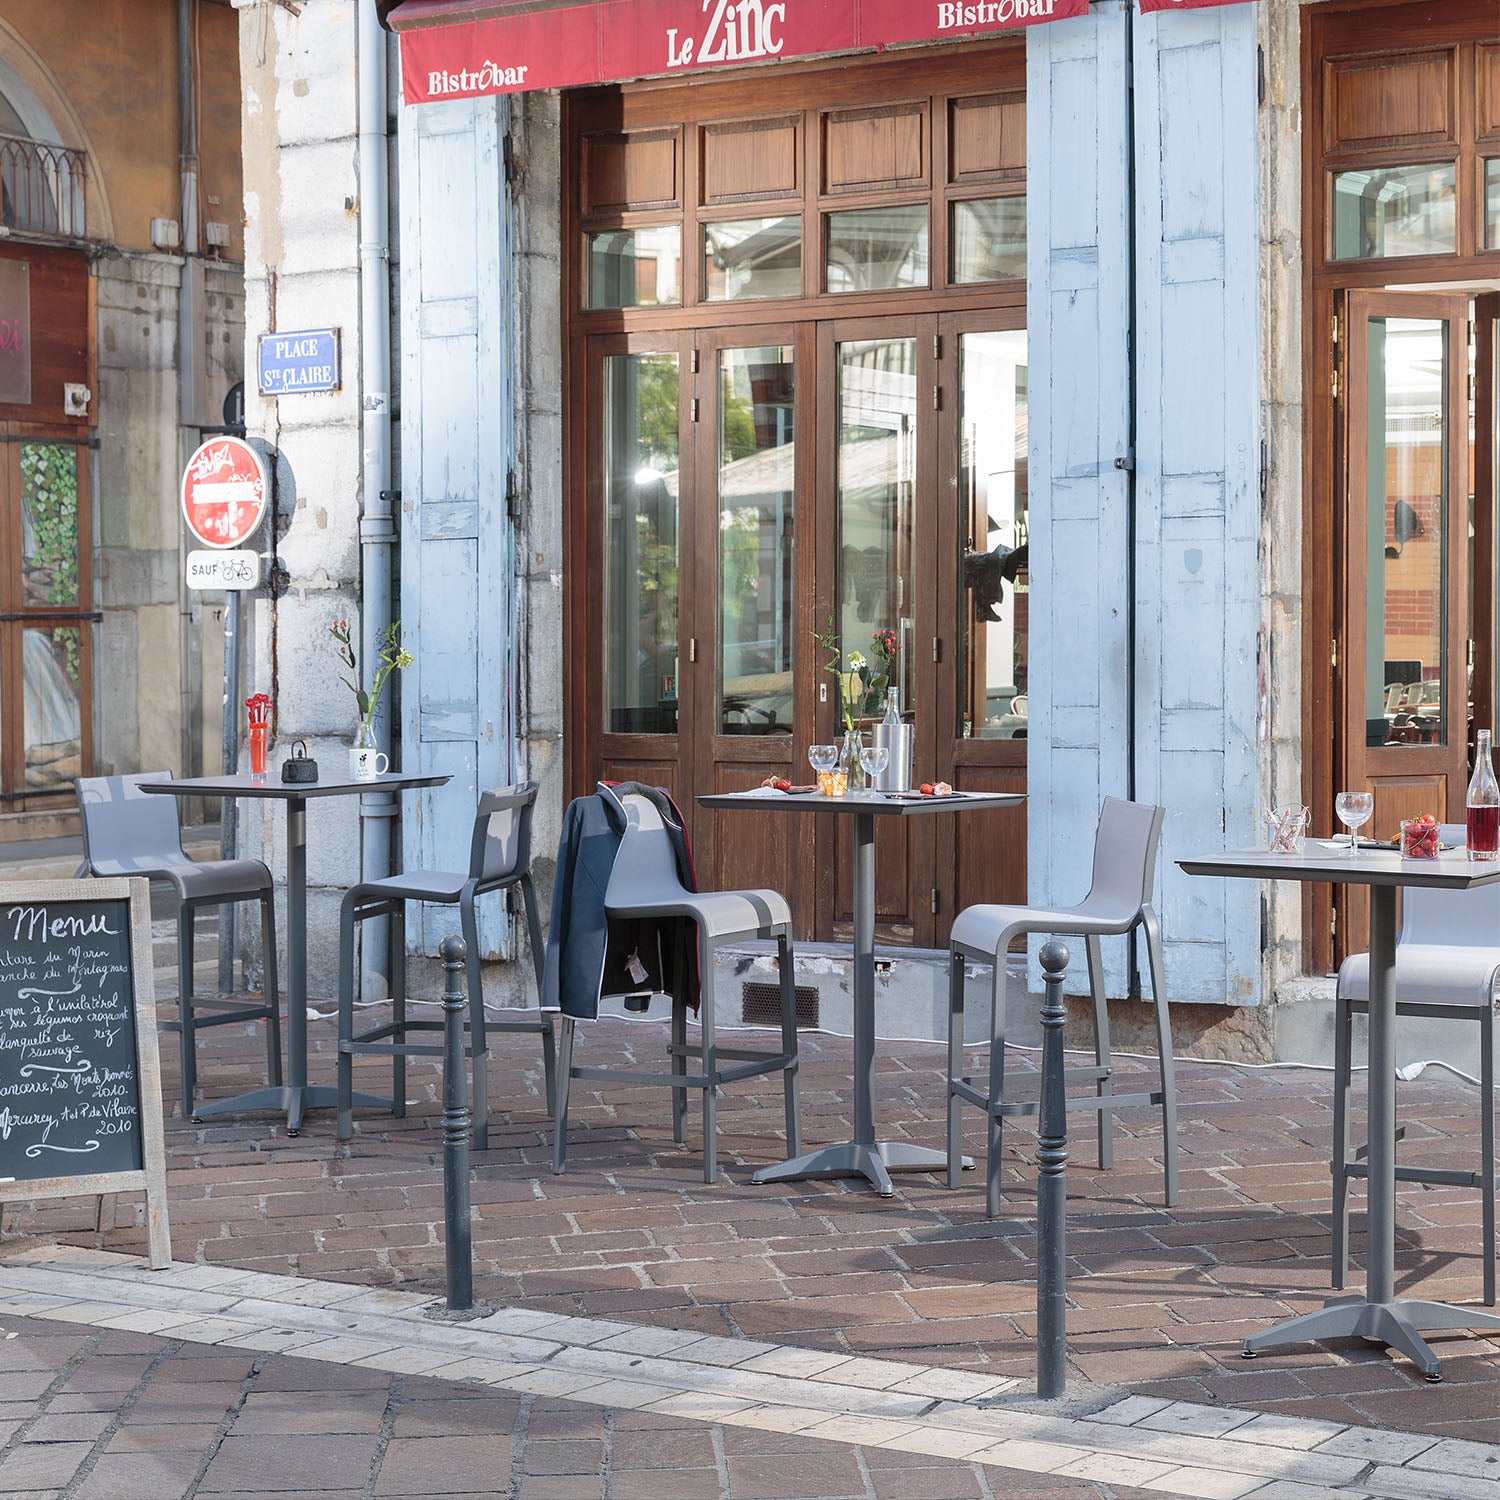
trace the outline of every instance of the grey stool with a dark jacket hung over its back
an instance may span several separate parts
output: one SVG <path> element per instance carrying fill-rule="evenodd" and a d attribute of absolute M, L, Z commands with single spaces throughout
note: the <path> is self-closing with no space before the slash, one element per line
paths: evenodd
<path fill-rule="evenodd" d="M 639 1072 L 627 1068 L 578 1068 L 573 1065 L 572 1016 L 558 1017 L 556 1126 L 552 1138 L 552 1170 L 567 1166 L 567 1100 L 573 1078 L 598 1078 L 616 1084 L 645 1084 L 672 1090 L 672 1140 L 686 1138 L 687 1090 L 704 1094 L 704 1180 L 718 1174 L 718 1088 L 762 1072 L 782 1072 L 786 1110 L 788 1155 L 802 1149 L 796 1094 L 796 988 L 792 957 L 792 910 L 777 891 L 690 891 L 678 879 L 676 860 L 662 814 L 645 796 L 620 798 L 626 831 L 609 874 L 604 909 L 609 916 L 687 916 L 698 924 L 698 1020 L 702 1032 L 696 1047 L 687 1044 L 687 1004 L 672 1002 L 672 1035 L 668 1047 L 670 1072 Z M 765 1052 L 720 1047 L 714 1032 L 714 948 L 746 938 L 774 938 L 782 981 L 782 1050 Z M 688 1072 L 687 1059 L 699 1059 L 700 1071 Z M 724 1060 L 735 1064 L 723 1066 Z"/>

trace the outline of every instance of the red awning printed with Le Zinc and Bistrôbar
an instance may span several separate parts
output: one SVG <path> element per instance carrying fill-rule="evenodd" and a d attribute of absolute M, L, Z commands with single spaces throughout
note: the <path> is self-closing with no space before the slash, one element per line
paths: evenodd
<path fill-rule="evenodd" d="M 400 0 L 390 26 L 402 33 L 405 100 L 424 104 L 969 42 L 1088 9 L 1089 0 Z"/>

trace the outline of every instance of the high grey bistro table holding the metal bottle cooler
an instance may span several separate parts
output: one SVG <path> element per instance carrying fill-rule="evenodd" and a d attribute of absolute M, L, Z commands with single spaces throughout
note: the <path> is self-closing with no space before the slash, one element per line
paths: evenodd
<path fill-rule="evenodd" d="M 888 1198 L 892 1172 L 940 1172 L 945 1152 L 874 1137 L 874 820 L 918 813 L 978 813 L 1023 802 L 1018 792 L 956 792 L 951 796 L 880 794 L 820 796 L 816 792 L 752 790 L 700 796 L 704 807 L 768 813 L 834 813 L 854 819 L 854 1140 L 822 1146 L 774 1167 L 762 1167 L 752 1182 L 795 1182 L 800 1178 L 867 1178 Z M 966 1161 L 964 1166 L 972 1166 Z"/>

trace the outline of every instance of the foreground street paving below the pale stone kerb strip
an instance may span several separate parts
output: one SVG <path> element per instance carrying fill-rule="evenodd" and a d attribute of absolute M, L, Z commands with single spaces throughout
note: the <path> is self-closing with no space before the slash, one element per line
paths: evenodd
<path fill-rule="evenodd" d="M 0 1317 L 0 1496 L 1144 1500 L 1094 1479 L 36 1317 Z"/>

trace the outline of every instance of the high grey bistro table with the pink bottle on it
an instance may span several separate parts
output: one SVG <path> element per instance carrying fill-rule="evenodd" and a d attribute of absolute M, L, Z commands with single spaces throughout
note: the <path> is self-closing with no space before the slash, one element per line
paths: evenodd
<path fill-rule="evenodd" d="M 1382 849 L 1358 854 L 1317 848 L 1269 854 L 1236 849 L 1230 854 L 1179 860 L 1188 874 L 1222 874 L 1248 880 L 1302 880 L 1370 886 L 1370 1173 L 1364 1296 L 1334 1298 L 1317 1312 L 1251 1334 L 1244 1354 L 1252 1359 L 1262 1348 L 1278 1348 L 1304 1340 L 1370 1338 L 1400 1350 L 1428 1380 L 1442 1380 L 1437 1356 L 1422 1340 L 1436 1329 L 1500 1329 L 1500 1317 L 1476 1308 L 1449 1306 L 1395 1294 L 1396 1238 L 1396 891 L 1402 885 L 1426 885 L 1467 891 L 1473 885 L 1500 880 L 1500 862 L 1472 864 L 1460 852 L 1436 860 L 1402 860 Z"/>

